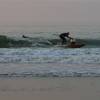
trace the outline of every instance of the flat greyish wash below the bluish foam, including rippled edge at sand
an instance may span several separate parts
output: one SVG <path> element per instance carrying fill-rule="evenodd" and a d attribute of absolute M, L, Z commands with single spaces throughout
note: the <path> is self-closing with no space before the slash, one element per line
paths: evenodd
<path fill-rule="evenodd" d="M 58 65 L 61 65 L 58 63 Z M 74 65 L 67 65 L 64 66 L 58 66 L 55 64 L 52 64 L 52 66 L 49 65 L 26 65 L 24 66 L 17 66 L 13 64 L 11 68 L 7 70 L 7 67 L 2 69 L 2 72 L 0 71 L 0 78 L 6 78 L 6 77 L 100 77 L 100 68 L 97 65 L 83 65 L 80 67 L 80 65 L 74 64 Z M 3 66 L 4 67 L 4 66 Z"/>

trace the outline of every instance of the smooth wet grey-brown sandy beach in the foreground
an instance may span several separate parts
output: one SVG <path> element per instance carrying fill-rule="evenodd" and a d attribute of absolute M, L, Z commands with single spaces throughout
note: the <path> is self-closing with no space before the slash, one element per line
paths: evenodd
<path fill-rule="evenodd" d="M 1 100 L 99 100 L 99 77 L 1 78 Z"/>

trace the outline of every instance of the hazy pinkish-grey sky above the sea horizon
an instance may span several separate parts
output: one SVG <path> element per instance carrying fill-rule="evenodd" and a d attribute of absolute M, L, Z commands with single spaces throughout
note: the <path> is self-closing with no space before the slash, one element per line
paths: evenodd
<path fill-rule="evenodd" d="M 100 0 L 0 0 L 0 25 L 100 24 Z"/>

